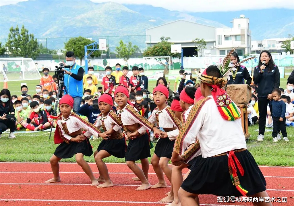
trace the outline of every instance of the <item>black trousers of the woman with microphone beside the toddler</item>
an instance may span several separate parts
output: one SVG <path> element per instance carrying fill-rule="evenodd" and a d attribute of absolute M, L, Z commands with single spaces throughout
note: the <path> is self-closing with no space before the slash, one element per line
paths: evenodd
<path fill-rule="evenodd" d="M 259 119 L 258 119 L 259 133 L 258 133 L 258 135 L 260 135 L 260 134 L 264 135 L 268 103 L 269 103 L 268 98 L 258 97 L 258 110 L 259 110 Z M 273 108 L 270 104 L 269 104 L 269 106 L 270 106 L 270 113 L 272 114 Z"/>

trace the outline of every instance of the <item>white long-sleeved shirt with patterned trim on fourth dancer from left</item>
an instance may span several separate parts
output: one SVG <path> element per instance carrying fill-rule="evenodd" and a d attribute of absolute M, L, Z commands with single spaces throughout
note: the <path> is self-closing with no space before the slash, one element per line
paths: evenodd
<path fill-rule="evenodd" d="M 158 120 L 156 116 L 158 115 Z M 176 117 L 169 106 L 166 106 L 163 110 L 159 111 L 155 108 L 148 119 L 152 124 L 157 123 L 158 127 L 162 128 L 174 128 L 175 130 L 167 132 L 168 138 L 172 141 L 179 135 L 179 127 L 181 127 L 181 121 Z M 158 122 L 157 122 L 158 121 Z"/>

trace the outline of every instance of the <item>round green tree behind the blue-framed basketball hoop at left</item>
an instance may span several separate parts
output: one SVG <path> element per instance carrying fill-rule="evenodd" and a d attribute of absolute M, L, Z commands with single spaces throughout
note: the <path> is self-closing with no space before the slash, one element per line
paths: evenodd
<path fill-rule="evenodd" d="M 64 48 L 66 51 L 73 51 L 75 56 L 78 57 L 81 61 L 82 64 L 82 60 L 85 57 L 85 46 L 89 45 L 91 43 L 93 43 L 95 41 L 87 39 L 85 37 L 74 37 L 74 38 L 70 38 L 68 40 L 68 42 L 64 43 Z M 99 48 L 99 45 L 97 44 L 97 47 Z M 66 52 L 65 51 L 65 52 Z M 93 53 L 91 53 L 90 55 L 92 58 L 93 57 L 100 57 L 101 56 L 101 51 L 94 51 Z"/>

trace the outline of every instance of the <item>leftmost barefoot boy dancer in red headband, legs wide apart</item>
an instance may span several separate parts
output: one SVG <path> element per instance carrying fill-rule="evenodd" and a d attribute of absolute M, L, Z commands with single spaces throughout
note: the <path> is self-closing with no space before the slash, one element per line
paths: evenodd
<path fill-rule="evenodd" d="M 61 144 L 56 147 L 54 154 L 50 158 L 54 177 L 45 181 L 45 183 L 60 182 L 58 162 L 61 159 L 71 158 L 76 155 L 76 162 L 91 179 L 91 186 L 98 186 L 99 183 L 94 177 L 90 166 L 84 160 L 84 155 L 91 156 L 93 154 L 88 137 L 91 135 L 98 136 L 100 131 L 80 116 L 71 112 L 73 107 L 74 98 L 70 95 L 64 95 L 59 101 L 61 114 L 57 118 L 54 143 Z M 83 134 L 83 130 L 86 131 L 85 134 Z"/>

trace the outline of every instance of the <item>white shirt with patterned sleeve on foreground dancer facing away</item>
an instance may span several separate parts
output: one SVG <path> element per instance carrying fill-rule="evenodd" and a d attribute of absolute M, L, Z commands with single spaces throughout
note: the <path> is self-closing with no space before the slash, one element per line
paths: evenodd
<path fill-rule="evenodd" d="M 190 112 L 188 116 L 188 118 L 192 118 L 192 121 L 189 125 L 184 125 L 183 131 L 180 131 L 183 136 L 181 136 L 177 147 L 175 146 L 178 154 L 183 154 L 191 142 L 196 140 L 196 136 L 204 158 L 234 149 L 247 148 L 241 118 L 235 121 L 224 120 L 212 96 L 197 103 L 201 104 L 198 111 L 196 113 Z M 196 107 L 197 103 L 193 107 Z"/>

